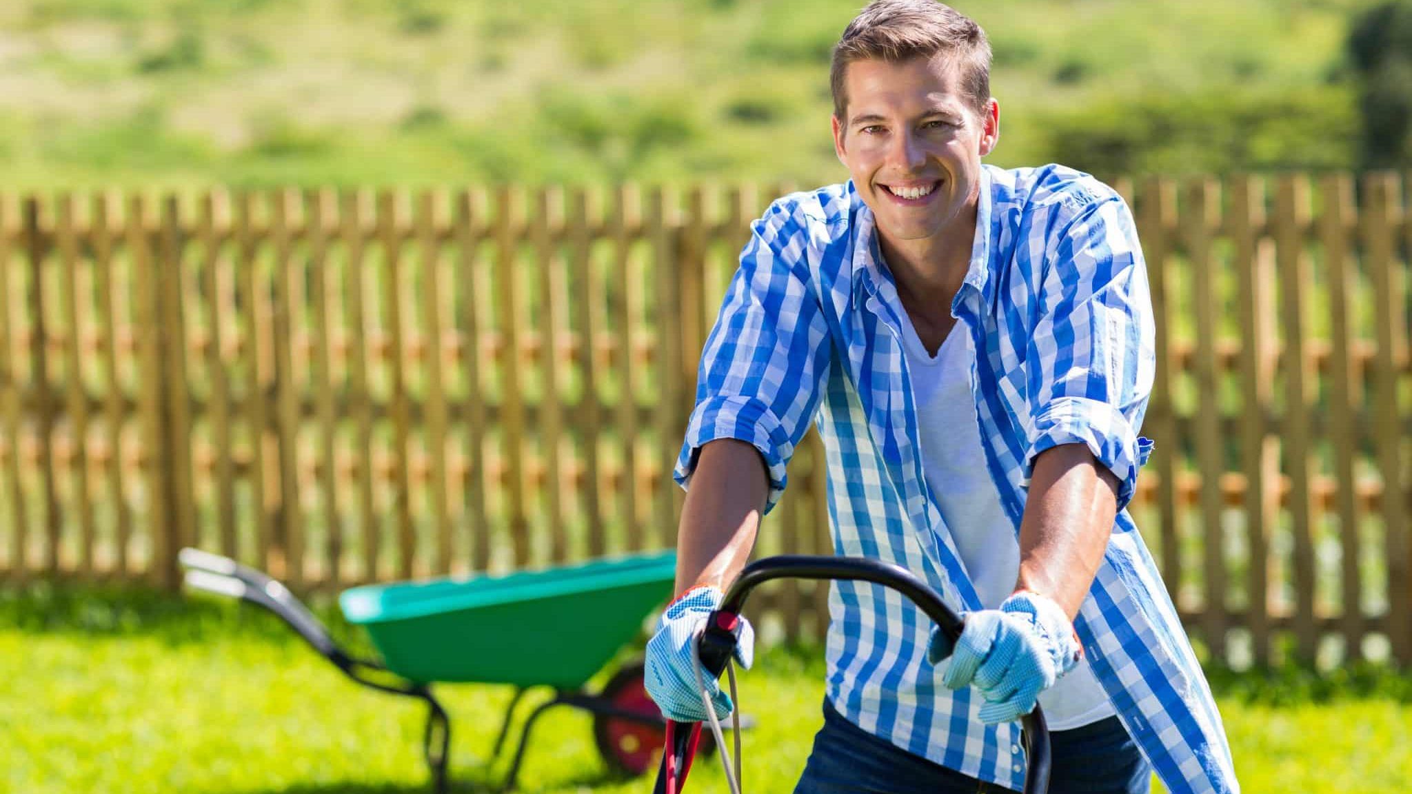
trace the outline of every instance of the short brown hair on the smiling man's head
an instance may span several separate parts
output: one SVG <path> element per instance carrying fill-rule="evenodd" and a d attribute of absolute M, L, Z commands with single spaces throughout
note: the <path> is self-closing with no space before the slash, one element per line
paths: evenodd
<path fill-rule="evenodd" d="M 829 85 L 833 114 L 840 122 L 849 97 L 843 78 L 849 64 L 878 59 L 897 64 L 945 52 L 962 71 L 962 90 L 971 107 L 986 114 L 990 102 L 990 41 L 970 17 L 936 0 L 873 0 L 833 47 Z"/>

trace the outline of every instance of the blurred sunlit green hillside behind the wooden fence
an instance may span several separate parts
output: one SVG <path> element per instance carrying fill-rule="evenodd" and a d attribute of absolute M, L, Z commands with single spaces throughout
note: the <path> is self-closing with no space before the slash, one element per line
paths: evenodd
<path fill-rule="evenodd" d="M 863 0 L 6 0 L 7 189 L 843 178 Z M 1367 0 L 969 0 L 991 162 L 1351 168 Z"/>

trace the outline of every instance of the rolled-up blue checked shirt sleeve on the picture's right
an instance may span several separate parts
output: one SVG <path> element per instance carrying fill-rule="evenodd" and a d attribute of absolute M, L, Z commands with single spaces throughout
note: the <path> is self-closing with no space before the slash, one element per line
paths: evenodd
<path fill-rule="evenodd" d="M 1083 444 L 1117 478 L 1123 510 L 1152 451 L 1138 437 L 1156 367 L 1147 266 L 1117 195 L 1066 199 L 1056 212 L 1027 355 L 1024 483 L 1041 452 Z"/>

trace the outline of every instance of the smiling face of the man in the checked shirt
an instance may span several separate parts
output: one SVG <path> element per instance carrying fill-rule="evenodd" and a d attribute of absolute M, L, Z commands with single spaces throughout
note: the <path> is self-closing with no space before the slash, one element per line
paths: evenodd
<path fill-rule="evenodd" d="M 959 69 L 942 57 L 854 61 L 844 86 L 847 119 L 833 119 L 833 146 L 878 230 L 897 242 L 964 230 L 980 158 L 1000 137 L 995 100 L 977 114 Z"/>

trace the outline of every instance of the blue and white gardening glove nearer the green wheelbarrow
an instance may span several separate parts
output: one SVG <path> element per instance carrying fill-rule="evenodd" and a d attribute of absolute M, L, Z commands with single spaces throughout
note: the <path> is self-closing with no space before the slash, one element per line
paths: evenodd
<path fill-rule="evenodd" d="M 706 617 L 726 596 L 716 588 L 692 588 L 674 600 L 657 623 L 657 634 L 647 643 L 647 694 L 652 697 L 662 716 L 676 722 L 705 722 L 710 719 L 696 687 L 692 667 L 692 637 L 706 627 Z M 755 654 L 755 633 L 740 619 L 740 641 L 736 643 L 736 664 L 750 668 Z M 730 695 L 720 689 L 716 678 L 702 670 L 702 684 L 710 692 L 716 719 L 726 719 L 731 709 Z"/>

